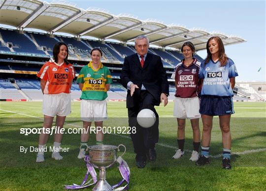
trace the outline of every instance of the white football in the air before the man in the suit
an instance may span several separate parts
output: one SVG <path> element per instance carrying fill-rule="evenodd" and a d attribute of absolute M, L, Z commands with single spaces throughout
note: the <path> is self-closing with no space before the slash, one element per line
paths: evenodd
<path fill-rule="evenodd" d="M 156 121 L 155 113 L 151 109 L 142 109 L 137 114 L 137 123 L 144 128 L 149 128 Z"/>

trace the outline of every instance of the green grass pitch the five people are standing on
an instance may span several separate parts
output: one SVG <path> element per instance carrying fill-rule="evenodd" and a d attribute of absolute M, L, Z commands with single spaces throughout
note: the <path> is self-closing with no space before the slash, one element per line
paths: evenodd
<path fill-rule="evenodd" d="M 72 102 L 72 113 L 67 116 L 65 128 L 76 128 L 80 121 L 80 103 Z M 232 170 L 222 169 L 222 136 L 218 118 L 214 118 L 210 146 L 211 163 L 196 166 L 189 161 L 192 151 L 192 129 L 186 125 L 185 157 L 173 160 L 177 147 L 177 123 L 172 116 L 173 103 L 157 107 L 160 115 L 160 139 L 156 146 L 157 161 L 148 162 L 144 169 L 135 166 L 133 145 L 129 135 L 106 134 L 105 144 L 124 144 L 124 159 L 131 169 L 130 190 L 266 190 L 266 104 L 252 102 L 234 103 L 231 119 L 233 138 Z M 125 102 L 108 102 L 109 119 L 104 126 L 128 126 Z M 77 159 L 79 134 L 65 134 L 61 161 L 45 153 L 45 162 L 37 164 L 36 153 L 20 152 L 20 146 L 37 146 L 38 135 L 25 136 L 20 128 L 42 127 L 41 102 L 0 102 L 0 190 L 64 190 L 64 185 L 80 184 L 86 173 L 84 161 Z M 202 124 L 200 120 L 200 130 Z M 96 143 L 95 135 L 89 144 Z M 52 146 L 50 136 L 47 146 Z M 261 149 L 261 150 L 258 150 Z M 118 152 L 118 155 L 122 154 Z M 97 170 L 98 172 L 98 170 Z M 117 165 L 107 169 L 107 181 L 114 185 L 121 180 Z"/>

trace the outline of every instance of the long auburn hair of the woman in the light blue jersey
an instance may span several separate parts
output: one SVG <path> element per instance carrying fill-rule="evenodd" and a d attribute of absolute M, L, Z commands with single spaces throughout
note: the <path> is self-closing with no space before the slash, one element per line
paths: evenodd
<path fill-rule="evenodd" d="M 222 39 L 219 37 L 219 36 L 212 36 L 209 38 L 209 40 L 207 41 L 207 44 L 206 44 L 206 49 L 207 49 L 207 57 L 206 57 L 206 60 L 205 60 L 205 63 L 208 63 L 211 59 L 211 52 L 209 50 L 209 42 L 214 39 L 217 44 L 218 44 L 218 59 L 221 63 L 221 66 L 225 66 L 227 64 L 227 61 L 228 61 L 228 57 L 227 55 L 225 54 L 225 47 L 224 47 L 224 43 L 222 41 Z"/>

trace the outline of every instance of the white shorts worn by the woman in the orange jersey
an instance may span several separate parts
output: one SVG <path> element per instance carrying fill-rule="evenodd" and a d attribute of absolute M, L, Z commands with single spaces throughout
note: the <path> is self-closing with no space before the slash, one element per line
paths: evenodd
<path fill-rule="evenodd" d="M 70 93 L 44 94 L 42 112 L 51 117 L 66 116 L 71 113 Z"/>

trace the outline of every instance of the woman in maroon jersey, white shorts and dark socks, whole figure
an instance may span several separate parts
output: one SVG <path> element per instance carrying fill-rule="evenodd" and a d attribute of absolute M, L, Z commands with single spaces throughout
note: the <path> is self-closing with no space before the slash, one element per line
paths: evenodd
<path fill-rule="evenodd" d="M 173 115 L 177 118 L 177 143 L 173 159 L 179 159 L 184 156 L 185 143 L 185 125 L 186 119 L 190 119 L 193 130 L 193 152 L 191 161 L 197 161 L 199 158 L 199 65 L 200 62 L 193 57 L 195 47 L 191 42 L 185 42 L 181 48 L 184 59 L 175 67 L 171 78 L 175 79 L 175 100 Z"/>

